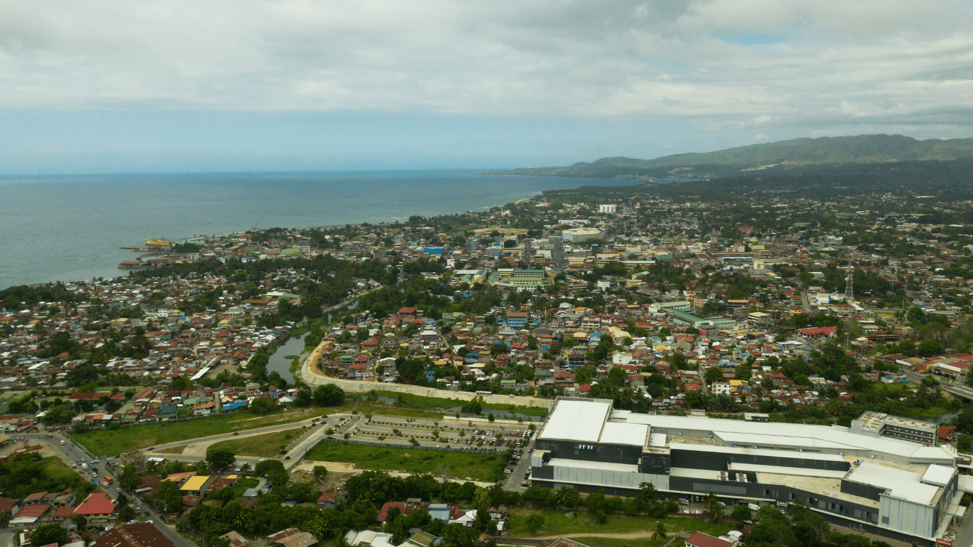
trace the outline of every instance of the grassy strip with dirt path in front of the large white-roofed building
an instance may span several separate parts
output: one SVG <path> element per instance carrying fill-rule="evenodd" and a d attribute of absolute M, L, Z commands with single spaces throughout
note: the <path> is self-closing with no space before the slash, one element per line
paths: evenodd
<path fill-rule="evenodd" d="M 516 511 L 516 514 L 515 514 Z M 515 536 L 520 537 L 530 537 L 532 534 L 527 529 L 527 516 L 536 511 L 530 510 L 515 510 L 511 511 L 510 514 L 510 533 Z M 572 519 L 566 518 L 565 511 L 540 511 L 544 515 L 545 527 L 547 529 L 539 530 L 535 535 L 559 535 L 559 534 L 584 534 L 584 533 L 626 533 L 631 531 L 648 531 L 652 532 L 656 528 L 656 522 L 659 519 L 652 517 L 647 517 L 644 515 L 635 515 L 632 517 L 627 517 L 624 515 L 612 515 L 608 517 L 608 522 L 603 525 L 597 524 L 595 520 L 590 518 L 587 513 L 575 513 L 575 517 Z M 666 523 L 669 536 L 676 530 L 683 530 L 688 532 L 703 531 L 710 535 L 721 535 L 730 531 L 734 528 L 735 523 L 723 523 L 720 525 L 710 523 L 703 519 L 686 519 L 686 518 L 667 518 L 664 521 Z M 592 540 L 594 541 L 594 539 Z M 632 541 L 644 541 L 646 542 L 641 547 L 654 547 L 657 543 L 652 542 L 649 539 L 615 539 L 607 537 L 598 537 L 595 543 L 601 545 L 616 545 L 613 543 L 617 541 L 617 545 L 621 547 L 622 543 L 628 543 L 629 547 L 633 547 Z"/>

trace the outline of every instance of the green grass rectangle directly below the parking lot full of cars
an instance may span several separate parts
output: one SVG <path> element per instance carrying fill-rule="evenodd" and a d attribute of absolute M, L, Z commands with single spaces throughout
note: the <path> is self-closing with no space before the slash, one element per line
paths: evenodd
<path fill-rule="evenodd" d="M 462 480 L 471 477 L 477 481 L 492 481 L 503 475 L 504 460 L 500 456 L 439 452 L 412 448 L 382 448 L 368 445 L 351 445 L 325 442 L 314 447 L 305 459 L 310 461 L 345 461 L 361 469 L 381 471 L 407 471 L 410 473 L 436 473 L 443 466 L 449 474 Z"/>

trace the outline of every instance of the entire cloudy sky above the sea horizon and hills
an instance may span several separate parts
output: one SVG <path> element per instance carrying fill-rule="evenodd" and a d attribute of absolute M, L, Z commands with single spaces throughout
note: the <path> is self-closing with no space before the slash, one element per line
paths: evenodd
<path fill-rule="evenodd" d="M 513 167 L 973 136 L 973 5 L 0 0 L 0 172 Z"/>

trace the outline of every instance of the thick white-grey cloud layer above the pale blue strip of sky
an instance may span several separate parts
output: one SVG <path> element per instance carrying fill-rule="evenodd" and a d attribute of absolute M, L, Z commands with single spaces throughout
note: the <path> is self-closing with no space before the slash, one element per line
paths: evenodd
<path fill-rule="evenodd" d="M 959 123 L 971 23 L 949 0 L 0 0 L 0 107 Z"/>

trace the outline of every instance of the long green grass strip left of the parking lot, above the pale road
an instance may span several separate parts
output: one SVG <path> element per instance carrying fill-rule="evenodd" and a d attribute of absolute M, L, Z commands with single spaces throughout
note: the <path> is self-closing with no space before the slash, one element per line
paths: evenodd
<path fill-rule="evenodd" d="M 246 412 L 204 419 L 190 419 L 161 423 L 146 423 L 132 425 L 115 431 L 98 429 L 79 433 L 74 438 L 85 445 L 95 456 L 116 456 L 132 449 L 147 449 L 154 445 L 198 439 L 219 433 L 244 431 L 267 425 L 288 423 L 302 419 L 322 416 L 335 412 L 328 408 L 310 408 L 289 411 L 277 411 L 267 416 L 256 416 Z"/>

